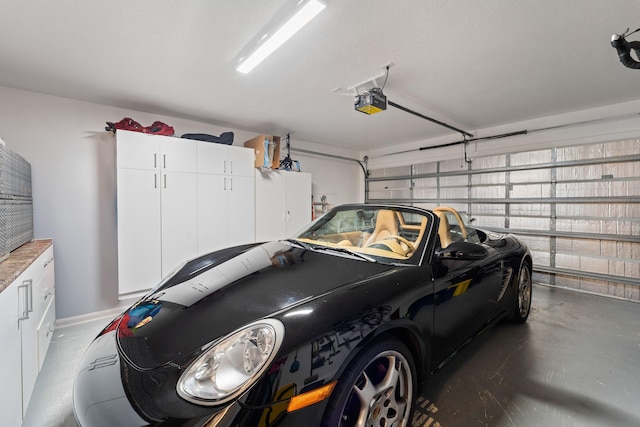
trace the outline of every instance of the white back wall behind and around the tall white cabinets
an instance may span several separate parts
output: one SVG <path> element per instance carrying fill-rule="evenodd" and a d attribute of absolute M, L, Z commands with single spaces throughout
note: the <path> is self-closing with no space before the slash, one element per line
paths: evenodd
<path fill-rule="evenodd" d="M 255 136 L 252 132 L 0 86 L 0 138 L 31 163 L 35 237 L 54 239 L 58 318 L 120 304 L 115 140 L 104 127 L 106 121 L 123 117 L 131 117 L 143 126 L 160 120 L 172 125 L 177 135 L 219 135 L 232 130 L 234 145 Z M 331 151 L 295 139 L 292 146 Z M 338 154 L 356 157 L 353 153 Z M 357 164 L 296 153 L 292 158 L 313 175 L 314 195 L 330 193 L 336 203 L 364 199 L 363 175 Z"/>

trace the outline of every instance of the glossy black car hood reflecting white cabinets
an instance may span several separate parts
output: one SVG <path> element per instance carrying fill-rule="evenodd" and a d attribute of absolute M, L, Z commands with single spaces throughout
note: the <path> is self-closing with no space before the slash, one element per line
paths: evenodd
<path fill-rule="evenodd" d="M 188 363 L 203 346 L 252 321 L 392 268 L 285 242 L 214 253 L 126 311 L 114 324 L 118 347 L 138 369 Z"/>

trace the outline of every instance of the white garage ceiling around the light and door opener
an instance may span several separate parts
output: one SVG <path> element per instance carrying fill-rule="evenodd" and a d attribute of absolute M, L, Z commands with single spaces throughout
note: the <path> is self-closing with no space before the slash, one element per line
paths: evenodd
<path fill-rule="evenodd" d="M 640 26 L 638 0 L 326 0 L 246 75 L 234 58 L 290 0 L 0 2 L 2 86 L 292 132 L 292 143 L 368 151 L 459 138 L 393 107 L 356 112 L 332 92 L 388 63 L 389 100 L 472 133 L 640 99 L 640 70 L 610 45 Z"/>

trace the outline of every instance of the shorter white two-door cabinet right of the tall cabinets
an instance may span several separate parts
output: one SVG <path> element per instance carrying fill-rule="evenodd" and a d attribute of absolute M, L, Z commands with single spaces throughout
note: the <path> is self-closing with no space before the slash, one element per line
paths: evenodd
<path fill-rule="evenodd" d="M 290 237 L 311 221 L 311 174 L 255 171 L 256 241 Z"/>

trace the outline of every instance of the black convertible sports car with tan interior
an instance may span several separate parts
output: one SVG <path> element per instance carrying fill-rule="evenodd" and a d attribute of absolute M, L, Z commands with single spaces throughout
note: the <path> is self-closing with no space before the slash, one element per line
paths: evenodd
<path fill-rule="evenodd" d="M 524 322 L 531 255 L 454 209 L 339 206 L 294 238 L 191 260 L 87 349 L 100 426 L 408 426 L 418 384 L 495 321 Z"/>

